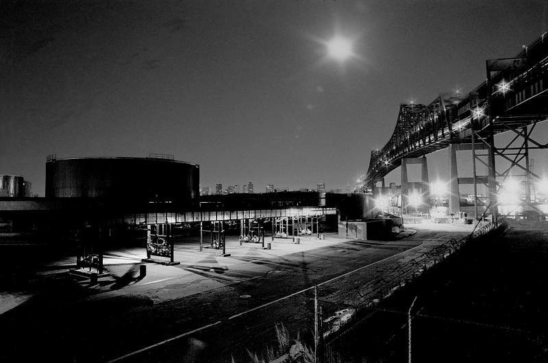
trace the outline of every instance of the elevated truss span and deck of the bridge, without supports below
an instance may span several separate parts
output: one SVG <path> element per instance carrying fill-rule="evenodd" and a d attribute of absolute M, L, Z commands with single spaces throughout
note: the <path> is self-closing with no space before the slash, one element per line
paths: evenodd
<path fill-rule="evenodd" d="M 441 93 L 429 105 L 400 105 L 390 140 L 382 149 L 371 151 L 365 183 L 371 185 L 382 180 L 401 165 L 402 158 L 423 156 L 445 149 L 450 143 L 469 142 L 473 132 L 488 138 L 490 132 L 508 132 L 508 125 L 518 129 L 548 115 L 547 34 L 532 42 L 518 57 L 527 58 L 527 67 L 499 71 L 493 76 L 489 90 L 483 82 L 468 95 Z M 505 80 L 509 88 L 497 91 L 500 84 L 497 82 Z M 493 126 L 488 110 L 512 121 Z"/>

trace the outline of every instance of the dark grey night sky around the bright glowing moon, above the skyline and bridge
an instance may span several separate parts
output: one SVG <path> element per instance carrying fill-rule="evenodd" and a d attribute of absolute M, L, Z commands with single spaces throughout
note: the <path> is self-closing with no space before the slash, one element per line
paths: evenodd
<path fill-rule="evenodd" d="M 173 154 L 210 188 L 353 186 L 400 103 L 469 92 L 548 19 L 541 0 L 0 4 L 0 174 L 40 196 L 51 153 Z"/>

